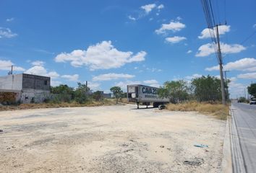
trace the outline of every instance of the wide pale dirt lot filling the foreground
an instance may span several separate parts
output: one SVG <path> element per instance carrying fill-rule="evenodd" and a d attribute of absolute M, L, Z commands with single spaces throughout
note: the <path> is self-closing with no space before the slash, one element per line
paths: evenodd
<path fill-rule="evenodd" d="M 0 112 L 0 172 L 221 172 L 225 121 L 135 108 Z"/>

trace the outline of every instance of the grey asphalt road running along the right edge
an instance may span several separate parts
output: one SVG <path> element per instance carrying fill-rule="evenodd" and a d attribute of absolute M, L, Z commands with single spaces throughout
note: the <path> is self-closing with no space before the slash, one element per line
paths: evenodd
<path fill-rule="evenodd" d="M 256 172 L 256 105 L 232 102 L 233 172 Z"/>

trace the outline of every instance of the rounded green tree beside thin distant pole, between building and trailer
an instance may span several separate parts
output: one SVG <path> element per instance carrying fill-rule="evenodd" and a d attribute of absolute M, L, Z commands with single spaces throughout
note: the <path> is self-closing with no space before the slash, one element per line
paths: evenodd
<path fill-rule="evenodd" d="M 90 90 L 85 84 L 81 84 L 80 82 L 77 83 L 77 89 L 74 90 L 74 99 L 76 102 L 83 104 L 88 102 L 88 91 Z"/>

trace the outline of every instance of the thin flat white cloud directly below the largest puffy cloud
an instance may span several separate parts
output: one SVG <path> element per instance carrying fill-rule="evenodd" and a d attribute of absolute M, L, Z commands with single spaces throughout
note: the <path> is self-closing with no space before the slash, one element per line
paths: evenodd
<path fill-rule="evenodd" d="M 101 74 L 93 77 L 93 81 L 111 81 L 114 79 L 131 79 L 135 77 L 130 74 Z"/>

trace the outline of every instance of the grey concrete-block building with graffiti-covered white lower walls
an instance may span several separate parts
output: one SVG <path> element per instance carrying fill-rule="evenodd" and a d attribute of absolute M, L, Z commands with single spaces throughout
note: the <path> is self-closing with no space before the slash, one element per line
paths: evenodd
<path fill-rule="evenodd" d="M 50 81 L 50 77 L 33 74 L 1 76 L 0 102 L 43 102 L 50 96 Z"/>

